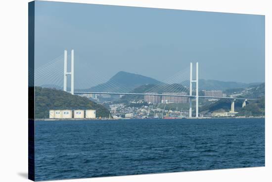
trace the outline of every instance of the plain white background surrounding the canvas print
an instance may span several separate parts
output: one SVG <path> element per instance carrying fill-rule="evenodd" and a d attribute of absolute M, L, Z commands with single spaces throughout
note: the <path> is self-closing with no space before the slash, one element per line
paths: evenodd
<path fill-rule="evenodd" d="M 0 1 L 0 181 L 24 182 L 28 172 L 28 1 Z M 266 15 L 266 167 L 65 180 L 62 182 L 268 182 L 272 179 L 269 54 L 270 0 L 55 0 Z M 270 50 L 270 52 L 269 52 Z M 14 114 L 16 113 L 16 114 Z M 51 181 L 53 182 L 53 181 Z"/>

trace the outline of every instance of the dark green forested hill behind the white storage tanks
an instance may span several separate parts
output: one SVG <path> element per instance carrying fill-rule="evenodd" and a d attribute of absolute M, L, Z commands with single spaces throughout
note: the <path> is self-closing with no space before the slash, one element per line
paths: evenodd
<path fill-rule="evenodd" d="M 86 97 L 56 89 L 35 87 L 35 118 L 48 118 L 50 109 L 95 109 L 96 117 L 108 117 L 110 114 L 104 106 Z"/>

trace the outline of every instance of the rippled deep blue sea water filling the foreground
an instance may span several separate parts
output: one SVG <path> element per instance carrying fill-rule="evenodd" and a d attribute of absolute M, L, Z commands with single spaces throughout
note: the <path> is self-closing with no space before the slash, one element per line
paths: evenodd
<path fill-rule="evenodd" d="M 265 166 L 265 119 L 36 121 L 37 181 Z"/>

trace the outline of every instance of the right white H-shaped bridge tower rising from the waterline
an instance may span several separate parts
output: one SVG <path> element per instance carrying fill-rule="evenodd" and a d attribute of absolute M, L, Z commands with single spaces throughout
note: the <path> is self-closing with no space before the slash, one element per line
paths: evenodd
<path fill-rule="evenodd" d="M 195 118 L 198 118 L 198 62 L 196 62 L 195 80 L 192 79 L 193 76 L 192 62 L 190 63 L 190 96 L 192 96 L 192 83 L 195 82 Z M 189 108 L 189 118 L 192 118 L 192 98 L 189 98 L 190 108 Z"/>

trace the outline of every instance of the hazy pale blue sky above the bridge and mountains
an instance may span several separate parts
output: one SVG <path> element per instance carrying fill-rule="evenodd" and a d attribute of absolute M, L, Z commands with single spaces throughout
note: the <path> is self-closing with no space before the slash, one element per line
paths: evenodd
<path fill-rule="evenodd" d="M 76 80 L 164 80 L 198 61 L 203 79 L 265 81 L 265 16 L 47 1 L 35 13 L 36 67 L 74 49 Z"/>

